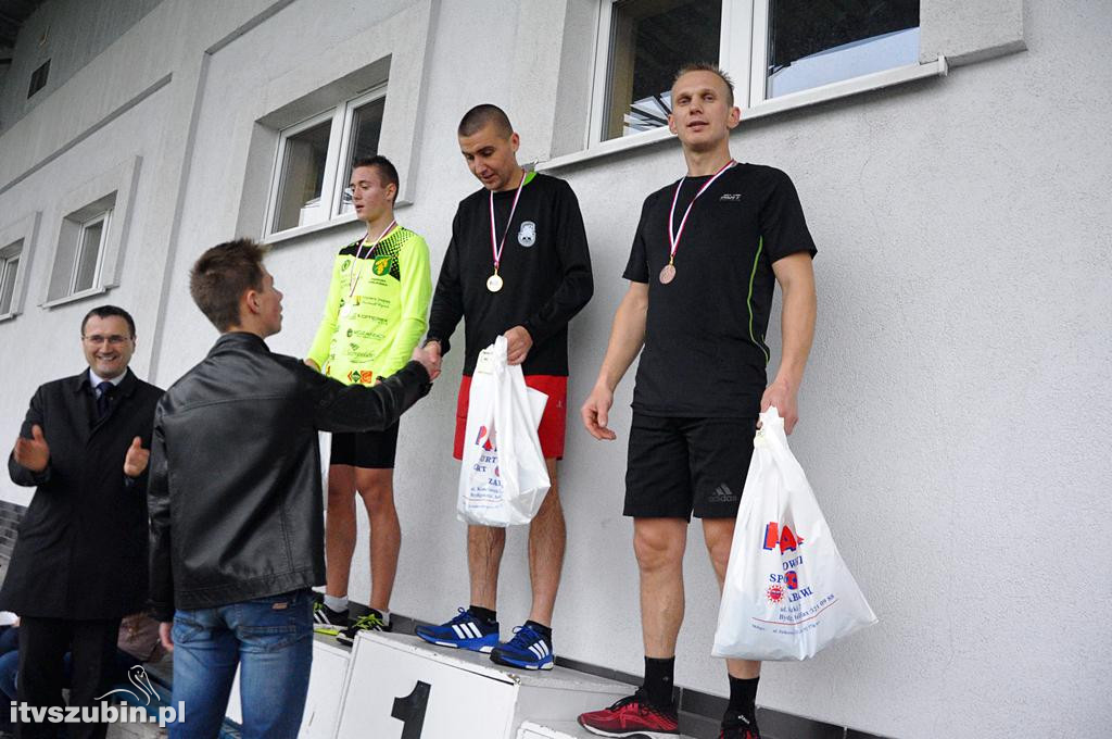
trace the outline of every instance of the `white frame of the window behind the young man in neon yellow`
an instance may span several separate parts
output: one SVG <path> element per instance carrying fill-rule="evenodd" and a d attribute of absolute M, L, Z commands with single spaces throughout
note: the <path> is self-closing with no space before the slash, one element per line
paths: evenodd
<path fill-rule="evenodd" d="M 266 219 L 262 225 L 262 238 L 265 240 L 280 238 L 301 228 L 322 227 L 339 219 L 350 219 L 351 214 L 340 213 L 344 187 L 346 185 L 345 180 L 349 174 L 345 168 L 340 167 L 340 162 L 348 160 L 351 147 L 355 145 L 351 128 L 356 108 L 378 99 L 385 99 L 387 85 L 388 81 L 375 85 L 354 97 L 278 131 L 278 142 L 270 174 L 270 188 L 267 195 Z M 312 223 L 277 229 L 275 227 L 275 217 L 278 213 L 279 197 L 282 189 L 281 175 L 286 161 L 287 141 L 290 137 L 297 136 L 326 121 L 331 121 L 331 126 L 328 130 L 328 151 L 325 157 L 324 179 L 320 186 L 320 205 L 321 207 L 326 207 L 325 216 Z M 381 135 L 379 135 L 379 140 L 381 140 Z"/>

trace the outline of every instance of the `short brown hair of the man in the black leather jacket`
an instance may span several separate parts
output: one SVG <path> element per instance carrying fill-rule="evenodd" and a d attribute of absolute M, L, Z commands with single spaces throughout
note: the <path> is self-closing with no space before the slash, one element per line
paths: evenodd
<path fill-rule="evenodd" d="M 267 247 L 249 238 L 217 244 L 201 255 L 189 273 L 189 294 L 218 331 L 239 325 L 239 298 L 262 289 L 262 257 Z"/>

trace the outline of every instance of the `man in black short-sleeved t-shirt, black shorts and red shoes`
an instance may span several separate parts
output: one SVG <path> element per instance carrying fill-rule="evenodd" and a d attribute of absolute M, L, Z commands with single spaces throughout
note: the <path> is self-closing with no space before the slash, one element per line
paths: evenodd
<path fill-rule="evenodd" d="M 645 199 L 606 358 L 582 415 L 613 440 L 614 388 L 641 352 L 634 388 L 625 514 L 641 570 L 645 682 L 634 696 L 579 717 L 607 737 L 678 733 L 672 701 L 684 613 L 683 554 L 692 513 L 703 520 L 719 585 L 753 452 L 758 411 L 775 405 L 791 433 L 815 322 L 815 246 L 787 175 L 737 164 L 729 79 L 711 65 L 679 71 L 668 127 L 687 176 Z M 766 386 L 765 331 L 783 290 L 783 356 Z M 642 351 L 644 347 L 644 351 Z M 725 739 L 759 739 L 761 663 L 727 660 Z"/>

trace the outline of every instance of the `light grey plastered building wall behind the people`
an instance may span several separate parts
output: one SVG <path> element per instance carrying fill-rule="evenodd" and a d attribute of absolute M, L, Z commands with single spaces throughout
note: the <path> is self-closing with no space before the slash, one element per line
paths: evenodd
<path fill-rule="evenodd" d="M 411 134 L 394 140 L 413 149 L 385 152 L 411 162 L 411 205 L 398 216 L 428 239 L 434 266 L 455 204 L 477 187 L 454 139 L 464 110 L 478 101 L 506 106 L 524 158 L 566 154 L 582 141 L 590 83 L 583 45 L 593 46 L 582 32 L 593 31 L 587 0 L 395 0 L 358 12 L 340 0 L 260 0 L 220 3 L 205 18 L 189 4 L 161 3 L 80 72 L 111 80 L 113 101 L 97 115 L 39 120 L 46 128 L 24 120 L 0 137 L 0 228 L 28 209 L 52 223 L 63 215 L 51 210 L 59 181 L 143 157 L 123 278 L 107 297 L 136 308 L 141 342 L 145 326 L 157 327 L 136 368 L 156 367 L 159 384 L 203 356 L 216 336 L 188 299 L 189 265 L 261 221 L 250 193 L 269 179 L 270 161 L 250 155 L 255 121 L 375 61 L 387 46 L 400 49 L 383 28 L 401 28 L 420 49 L 407 57 L 423 65 L 416 70 L 391 57 L 387 92 L 387 118 L 405 111 L 387 125 Z M 818 244 L 820 322 L 792 444 L 881 618 L 808 663 L 766 666 L 758 698 L 893 737 L 1032 728 L 1095 737 L 1112 719 L 1104 669 L 1112 642 L 1101 610 L 1112 597 L 1101 568 L 1112 560 L 1102 535 L 1112 518 L 1104 431 L 1112 342 L 1101 325 L 1112 304 L 1112 152 L 1103 136 L 1112 70 L 1099 62 L 1112 12 L 1085 0 L 994 0 L 980 6 L 1002 19 L 993 23 L 949 12 L 953 6 L 924 0 L 927 57 L 1026 51 L 743 121 L 734 137 L 737 158 L 792 175 Z M 514 63 L 493 62 L 496 52 Z M 399 79 L 410 85 L 399 89 Z M 85 101 L 80 82 L 41 107 Z M 579 116 L 569 112 L 576 104 Z M 625 289 L 620 272 L 641 200 L 682 173 L 674 142 L 554 171 L 579 196 L 597 286 L 572 329 L 573 410 L 594 380 Z M 338 226 L 276 247 L 269 266 L 287 296 L 276 351 L 305 353 L 330 254 L 358 233 Z M 50 246 L 36 248 L 41 255 Z M 0 423 L 10 433 L 37 383 L 80 367 L 77 322 L 96 304 L 36 308 L 47 263 L 33 265 L 24 315 L 0 323 L 9 347 L 0 373 L 10 390 L 0 397 Z M 393 607 L 424 619 L 446 618 L 467 598 L 449 455 L 461 359 L 448 356 L 399 443 L 406 539 Z M 559 653 L 639 672 L 632 526 L 620 516 L 631 395 L 627 382 L 616 398 L 615 444 L 590 440 L 574 412 L 569 420 L 562 469 L 569 543 L 555 628 Z M 18 493 L 3 483 L 0 495 Z M 368 593 L 361 531 L 357 600 Z M 693 526 L 677 681 L 722 693 L 721 662 L 708 656 L 717 595 L 702 550 Z M 508 627 L 528 608 L 524 531 L 510 532 L 502 584 Z"/>

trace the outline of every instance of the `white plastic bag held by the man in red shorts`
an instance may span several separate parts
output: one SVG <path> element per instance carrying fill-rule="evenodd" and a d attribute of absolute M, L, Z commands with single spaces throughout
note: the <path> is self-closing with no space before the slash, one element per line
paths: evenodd
<path fill-rule="evenodd" d="M 506 363 L 506 337 L 484 349 L 471 376 L 457 518 L 484 526 L 528 523 L 550 481 L 537 426 L 548 396 Z"/>

